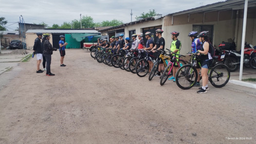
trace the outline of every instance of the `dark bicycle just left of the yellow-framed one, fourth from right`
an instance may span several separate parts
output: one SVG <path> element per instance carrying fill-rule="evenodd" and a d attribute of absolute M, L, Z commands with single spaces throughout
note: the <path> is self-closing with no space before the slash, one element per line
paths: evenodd
<path fill-rule="evenodd" d="M 144 59 L 139 60 L 138 63 L 135 65 L 135 71 L 139 77 L 145 77 L 147 75 L 149 71 L 149 63 L 147 61 L 150 60 L 154 62 L 154 59 L 152 59 L 151 57 L 155 57 L 152 55 L 149 56 L 149 52 L 150 51 L 147 50 L 146 57 Z"/>

